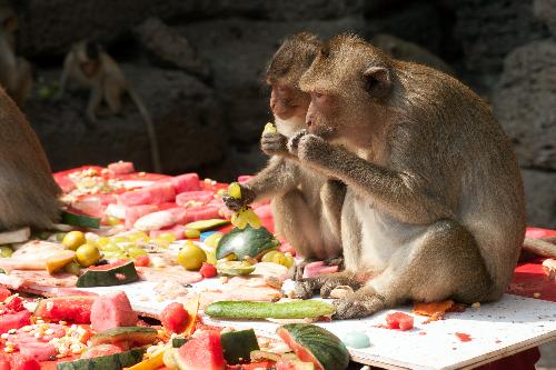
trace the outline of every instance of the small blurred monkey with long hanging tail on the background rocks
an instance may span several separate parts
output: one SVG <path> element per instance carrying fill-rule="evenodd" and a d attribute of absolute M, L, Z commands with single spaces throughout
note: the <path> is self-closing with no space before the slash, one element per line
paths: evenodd
<path fill-rule="evenodd" d="M 80 41 L 75 43 L 63 61 L 63 71 L 60 78 L 60 90 L 57 98 L 66 92 L 69 79 L 90 89 L 87 104 L 87 118 L 97 121 L 97 110 L 105 100 L 112 114 L 121 113 L 121 98 L 127 92 L 141 113 L 149 136 L 152 167 L 161 172 L 158 139 L 151 117 L 142 99 L 126 80 L 123 71 L 98 43 Z"/>

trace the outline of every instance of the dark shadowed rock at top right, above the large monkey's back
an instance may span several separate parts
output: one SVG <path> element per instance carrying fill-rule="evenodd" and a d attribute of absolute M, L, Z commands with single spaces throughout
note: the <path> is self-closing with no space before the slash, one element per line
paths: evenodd
<path fill-rule="evenodd" d="M 533 16 L 532 2 L 456 1 L 455 37 L 463 46 L 465 67 L 480 88 L 494 87 L 508 52 L 548 36 L 546 27 Z"/>

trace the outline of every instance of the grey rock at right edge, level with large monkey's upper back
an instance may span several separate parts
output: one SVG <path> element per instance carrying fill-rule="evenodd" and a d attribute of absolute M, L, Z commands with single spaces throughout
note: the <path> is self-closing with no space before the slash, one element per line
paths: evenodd
<path fill-rule="evenodd" d="M 494 111 L 522 167 L 556 170 L 556 41 L 528 43 L 505 60 Z"/>

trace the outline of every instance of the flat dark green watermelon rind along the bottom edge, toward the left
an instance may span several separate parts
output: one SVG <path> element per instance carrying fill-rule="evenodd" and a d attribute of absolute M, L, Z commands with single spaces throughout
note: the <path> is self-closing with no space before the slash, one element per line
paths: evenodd
<path fill-rule="evenodd" d="M 93 357 L 90 359 L 79 359 L 68 362 L 59 362 L 57 370 L 108 370 L 129 368 L 142 361 L 145 350 L 142 348 L 133 348 L 132 350 Z"/>

